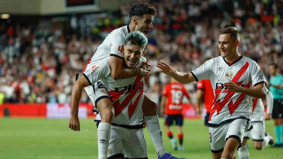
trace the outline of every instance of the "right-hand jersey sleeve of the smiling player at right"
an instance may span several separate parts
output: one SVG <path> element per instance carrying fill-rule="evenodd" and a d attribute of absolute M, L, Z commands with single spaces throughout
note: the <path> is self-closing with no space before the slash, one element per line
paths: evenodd
<path fill-rule="evenodd" d="M 256 64 L 256 62 L 252 63 L 250 71 L 251 71 L 250 74 L 251 74 L 251 78 L 252 78 L 252 83 L 253 83 L 254 86 L 256 86 L 260 83 L 266 83 L 264 75 L 261 72 L 258 64 Z"/>

